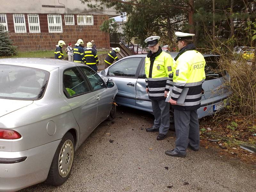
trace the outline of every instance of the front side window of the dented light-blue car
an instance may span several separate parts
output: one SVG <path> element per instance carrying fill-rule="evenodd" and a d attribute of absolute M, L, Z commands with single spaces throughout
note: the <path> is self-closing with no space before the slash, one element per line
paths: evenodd
<path fill-rule="evenodd" d="M 141 58 L 128 58 L 109 67 L 108 76 L 135 77 Z"/>

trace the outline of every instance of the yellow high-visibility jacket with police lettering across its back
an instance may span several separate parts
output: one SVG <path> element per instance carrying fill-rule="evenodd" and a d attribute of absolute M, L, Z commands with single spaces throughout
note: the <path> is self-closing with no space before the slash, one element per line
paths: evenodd
<path fill-rule="evenodd" d="M 173 67 L 173 89 L 171 96 L 178 100 L 184 87 L 188 87 L 188 94 L 183 106 L 173 105 L 178 110 L 195 110 L 200 108 L 202 97 L 202 83 L 205 80 L 204 56 L 196 50 L 188 50 L 182 53 Z"/>

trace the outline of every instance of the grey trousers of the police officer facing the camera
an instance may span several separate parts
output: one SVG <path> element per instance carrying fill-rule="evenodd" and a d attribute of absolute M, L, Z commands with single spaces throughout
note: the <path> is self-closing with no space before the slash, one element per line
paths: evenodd
<path fill-rule="evenodd" d="M 159 133 L 167 134 L 170 127 L 170 104 L 163 100 L 151 100 L 153 114 L 155 116 L 154 129 L 159 129 Z"/>

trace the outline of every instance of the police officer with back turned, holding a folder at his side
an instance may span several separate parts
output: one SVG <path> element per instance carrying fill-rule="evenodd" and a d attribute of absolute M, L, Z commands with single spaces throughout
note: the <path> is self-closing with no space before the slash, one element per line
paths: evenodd
<path fill-rule="evenodd" d="M 169 102 L 174 108 L 176 147 L 165 154 L 185 157 L 187 148 L 199 150 L 199 122 L 196 112 L 201 105 L 205 60 L 204 56 L 195 50 L 192 40 L 195 34 L 176 32 L 175 35 L 180 52 L 174 59 L 176 63 L 173 68 L 173 89 Z M 177 100 L 184 87 L 189 90 L 184 104 L 179 105 Z"/>

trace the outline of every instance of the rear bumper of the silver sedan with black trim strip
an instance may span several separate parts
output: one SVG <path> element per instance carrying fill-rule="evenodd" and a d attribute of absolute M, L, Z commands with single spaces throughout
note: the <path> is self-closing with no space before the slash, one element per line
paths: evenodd
<path fill-rule="evenodd" d="M 57 140 L 20 152 L 0 151 L 0 192 L 18 191 L 46 180 L 59 143 Z"/>

